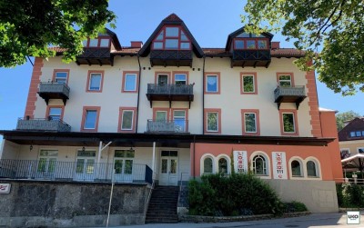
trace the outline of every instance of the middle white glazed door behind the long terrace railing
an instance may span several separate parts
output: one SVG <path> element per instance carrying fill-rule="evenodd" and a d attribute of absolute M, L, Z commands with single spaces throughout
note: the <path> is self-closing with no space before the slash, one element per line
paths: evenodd
<path fill-rule="evenodd" d="M 94 181 L 96 151 L 78 151 L 76 159 L 77 181 Z"/>

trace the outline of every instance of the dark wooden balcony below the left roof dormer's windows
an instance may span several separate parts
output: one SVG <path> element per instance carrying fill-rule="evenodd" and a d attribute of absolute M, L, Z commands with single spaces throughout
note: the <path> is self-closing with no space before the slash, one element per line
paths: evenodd
<path fill-rule="evenodd" d="M 84 47 L 84 53 L 76 56 L 76 64 L 114 64 L 114 56 L 110 55 L 109 47 Z"/>

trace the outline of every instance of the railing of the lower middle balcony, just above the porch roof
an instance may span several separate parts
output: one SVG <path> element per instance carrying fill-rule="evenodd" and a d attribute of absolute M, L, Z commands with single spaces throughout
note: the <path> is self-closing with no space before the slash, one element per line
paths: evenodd
<path fill-rule="evenodd" d="M 171 121 L 147 121 L 147 133 L 158 134 L 188 134 L 187 120 L 171 120 Z"/>

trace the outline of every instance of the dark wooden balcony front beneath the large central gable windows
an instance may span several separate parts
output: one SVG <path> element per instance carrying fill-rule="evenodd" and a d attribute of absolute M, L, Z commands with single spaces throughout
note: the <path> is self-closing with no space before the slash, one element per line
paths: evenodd
<path fill-rule="evenodd" d="M 191 50 L 152 50 L 150 64 L 163 66 L 189 66 L 192 67 Z"/>

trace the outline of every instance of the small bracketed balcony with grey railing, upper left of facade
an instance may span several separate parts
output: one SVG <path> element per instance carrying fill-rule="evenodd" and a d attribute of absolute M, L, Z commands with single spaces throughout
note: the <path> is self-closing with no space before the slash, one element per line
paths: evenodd
<path fill-rule="evenodd" d="M 49 99 L 62 99 L 63 104 L 69 99 L 69 87 L 62 83 L 40 83 L 38 94 L 45 99 L 48 105 Z"/>

